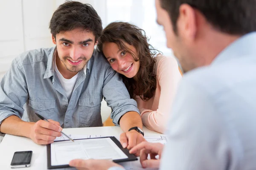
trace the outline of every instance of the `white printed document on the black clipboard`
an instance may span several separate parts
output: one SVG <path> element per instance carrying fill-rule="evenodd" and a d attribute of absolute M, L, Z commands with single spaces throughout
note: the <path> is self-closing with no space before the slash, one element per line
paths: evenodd
<path fill-rule="evenodd" d="M 52 166 L 69 164 L 73 159 L 127 159 L 128 156 L 110 139 L 98 138 L 53 142 L 51 144 Z"/>

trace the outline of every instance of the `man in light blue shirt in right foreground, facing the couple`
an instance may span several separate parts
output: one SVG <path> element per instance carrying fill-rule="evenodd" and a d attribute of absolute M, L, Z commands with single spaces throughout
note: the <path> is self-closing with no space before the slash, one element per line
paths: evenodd
<path fill-rule="evenodd" d="M 143 167 L 163 170 L 255 170 L 256 0 L 156 0 L 156 8 L 167 46 L 186 74 L 168 144 L 142 142 L 130 153 L 141 150 Z"/>

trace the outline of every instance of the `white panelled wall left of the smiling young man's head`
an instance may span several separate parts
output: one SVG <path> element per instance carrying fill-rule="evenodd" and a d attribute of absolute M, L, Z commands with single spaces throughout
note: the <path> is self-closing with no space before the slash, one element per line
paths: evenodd
<path fill-rule="evenodd" d="M 0 79 L 20 53 L 51 47 L 49 20 L 56 0 L 0 1 Z"/>

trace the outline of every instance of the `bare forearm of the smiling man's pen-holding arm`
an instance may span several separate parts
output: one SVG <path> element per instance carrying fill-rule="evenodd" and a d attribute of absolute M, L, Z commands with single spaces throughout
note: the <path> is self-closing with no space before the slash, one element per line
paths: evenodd
<path fill-rule="evenodd" d="M 17 116 L 9 116 L 0 125 L 0 132 L 16 136 L 29 137 L 34 122 L 24 122 Z"/>

